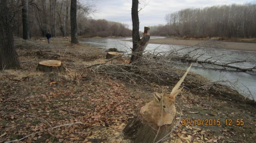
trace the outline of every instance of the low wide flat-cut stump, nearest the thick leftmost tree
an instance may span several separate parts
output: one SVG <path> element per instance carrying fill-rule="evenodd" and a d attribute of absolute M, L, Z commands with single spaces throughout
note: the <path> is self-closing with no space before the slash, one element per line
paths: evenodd
<path fill-rule="evenodd" d="M 63 72 L 65 71 L 65 68 L 63 67 L 63 64 L 61 61 L 57 60 L 48 60 L 48 61 L 41 61 L 36 71 L 43 71 L 43 72 Z"/>

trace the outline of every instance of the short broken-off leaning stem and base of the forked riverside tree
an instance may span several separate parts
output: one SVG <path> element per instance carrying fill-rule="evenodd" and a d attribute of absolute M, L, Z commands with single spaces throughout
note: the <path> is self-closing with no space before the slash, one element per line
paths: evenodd
<path fill-rule="evenodd" d="M 144 33 L 142 35 L 141 40 L 134 41 L 135 43 L 136 42 L 138 42 L 138 43 L 132 49 L 132 53 L 134 53 L 134 54 L 130 58 L 130 63 L 135 63 L 142 59 L 143 51 L 147 47 L 149 40 L 150 40 L 150 28 L 144 27 Z"/>

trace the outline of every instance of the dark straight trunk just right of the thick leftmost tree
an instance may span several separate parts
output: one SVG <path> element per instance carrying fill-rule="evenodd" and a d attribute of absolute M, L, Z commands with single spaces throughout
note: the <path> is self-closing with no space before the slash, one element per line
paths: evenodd
<path fill-rule="evenodd" d="M 30 39 L 29 27 L 29 1 L 22 0 L 22 26 L 23 26 L 23 39 Z"/>

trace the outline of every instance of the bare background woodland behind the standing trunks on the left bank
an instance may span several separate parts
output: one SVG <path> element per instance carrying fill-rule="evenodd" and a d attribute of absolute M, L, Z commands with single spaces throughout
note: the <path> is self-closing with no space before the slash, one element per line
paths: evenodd
<path fill-rule="evenodd" d="M 7 0 L 14 36 L 22 37 L 23 1 L 29 3 L 29 37 L 70 36 L 70 0 Z M 130 36 L 127 25 L 106 20 L 94 20 L 90 14 L 97 12 L 94 3 L 77 3 L 77 33 L 85 37 Z M 111 32 L 110 30 L 114 30 Z"/>

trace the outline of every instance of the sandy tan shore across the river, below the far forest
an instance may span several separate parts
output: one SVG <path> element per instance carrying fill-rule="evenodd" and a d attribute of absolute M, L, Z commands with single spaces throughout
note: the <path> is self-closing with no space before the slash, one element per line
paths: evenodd
<path fill-rule="evenodd" d="M 126 40 L 132 41 L 132 40 Z M 164 39 L 150 39 L 151 44 L 166 44 L 166 45 L 182 45 L 182 46 L 193 46 L 203 40 L 178 40 L 174 38 Z M 245 42 L 222 42 L 218 49 L 237 50 L 237 51 L 251 51 L 256 52 L 256 43 L 245 43 Z"/>

